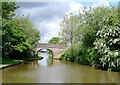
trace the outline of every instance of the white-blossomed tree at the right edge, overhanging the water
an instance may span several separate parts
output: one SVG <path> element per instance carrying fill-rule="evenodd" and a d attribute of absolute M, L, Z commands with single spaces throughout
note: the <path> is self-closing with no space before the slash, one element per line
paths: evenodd
<path fill-rule="evenodd" d="M 100 62 L 107 70 L 120 70 L 120 29 L 118 23 L 118 7 L 107 8 L 101 30 L 96 34 L 95 48 L 102 57 Z"/>

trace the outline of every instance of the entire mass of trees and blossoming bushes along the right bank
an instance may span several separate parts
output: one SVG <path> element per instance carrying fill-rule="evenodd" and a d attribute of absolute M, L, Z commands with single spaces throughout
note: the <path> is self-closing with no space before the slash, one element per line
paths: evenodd
<path fill-rule="evenodd" d="M 84 13 L 79 13 L 79 15 L 68 15 L 69 18 L 64 18 L 61 22 L 62 40 L 68 44 L 70 41 L 72 43 L 60 59 L 89 64 L 109 71 L 119 71 L 120 29 L 118 7 L 103 6 L 90 8 L 89 10 L 84 9 L 83 11 Z M 70 25 L 70 22 L 74 24 Z M 72 35 L 67 35 L 66 32 L 72 33 Z M 69 38 L 71 40 L 68 42 Z M 76 43 L 82 43 L 82 45 L 78 48 Z M 77 52 L 77 50 L 79 51 Z"/>

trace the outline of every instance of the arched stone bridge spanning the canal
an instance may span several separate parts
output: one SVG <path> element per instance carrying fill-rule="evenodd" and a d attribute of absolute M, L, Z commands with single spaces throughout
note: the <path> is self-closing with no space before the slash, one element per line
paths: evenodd
<path fill-rule="evenodd" d="M 55 58 L 55 55 L 64 52 L 66 47 L 62 44 L 37 43 L 36 55 L 38 55 L 38 52 L 42 49 L 51 50 Z"/>

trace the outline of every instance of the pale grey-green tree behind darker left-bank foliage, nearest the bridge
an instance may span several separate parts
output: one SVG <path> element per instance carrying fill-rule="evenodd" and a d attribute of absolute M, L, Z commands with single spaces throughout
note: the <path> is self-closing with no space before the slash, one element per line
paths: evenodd
<path fill-rule="evenodd" d="M 33 22 L 29 20 L 29 17 L 19 16 L 16 18 L 20 22 L 19 26 L 24 28 L 23 34 L 30 43 L 30 49 L 35 50 L 36 43 L 40 40 L 40 32 L 35 28 Z"/>

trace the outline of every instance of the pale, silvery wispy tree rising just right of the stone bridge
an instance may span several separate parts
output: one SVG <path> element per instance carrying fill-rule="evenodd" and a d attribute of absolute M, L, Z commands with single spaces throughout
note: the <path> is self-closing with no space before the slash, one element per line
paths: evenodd
<path fill-rule="evenodd" d="M 77 29 L 77 16 L 72 13 L 63 17 L 63 20 L 60 24 L 61 32 L 59 35 L 61 36 L 61 40 L 65 44 L 73 44 L 77 42 L 78 35 L 76 35 Z"/>

